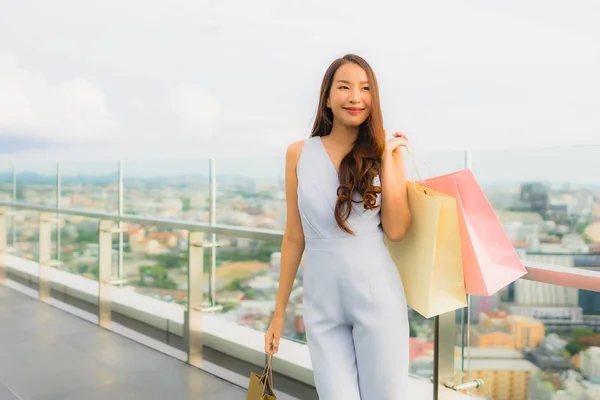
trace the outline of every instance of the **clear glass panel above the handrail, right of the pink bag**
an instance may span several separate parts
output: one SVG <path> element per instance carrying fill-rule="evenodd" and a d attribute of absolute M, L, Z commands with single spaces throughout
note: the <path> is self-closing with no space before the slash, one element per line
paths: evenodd
<path fill-rule="evenodd" d="M 600 251 L 598 168 L 597 146 L 473 153 L 473 172 L 515 247 L 558 265 Z"/>

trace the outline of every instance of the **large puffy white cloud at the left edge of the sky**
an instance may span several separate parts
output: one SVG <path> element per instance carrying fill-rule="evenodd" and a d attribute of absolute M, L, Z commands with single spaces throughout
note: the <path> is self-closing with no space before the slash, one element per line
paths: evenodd
<path fill-rule="evenodd" d="M 0 54 L 0 132 L 84 142 L 117 133 L 102 90 L 82 78 L 51 82 Z M 1 133 L 0 133 L 1 134 Z"/>

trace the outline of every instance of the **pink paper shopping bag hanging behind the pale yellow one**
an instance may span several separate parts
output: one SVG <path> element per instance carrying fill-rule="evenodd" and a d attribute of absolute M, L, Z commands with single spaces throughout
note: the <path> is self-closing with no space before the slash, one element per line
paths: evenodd
<path fill-rule="evenodd" d="M 470 170 L 427 179 L 456 197 L 468 294 L 490 296 L 527 273 L 494 209 Z"/>

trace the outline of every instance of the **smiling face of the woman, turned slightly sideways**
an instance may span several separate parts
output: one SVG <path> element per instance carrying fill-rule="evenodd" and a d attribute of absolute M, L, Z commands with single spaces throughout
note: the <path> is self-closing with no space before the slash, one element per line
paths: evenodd
<path fill-rule="evenodd" d="M 371 113 L 371 90 L 365 70 L 354 63 L 342 65 L 333 76 L 327 99 L 334 121 L 358 127 Z"/>

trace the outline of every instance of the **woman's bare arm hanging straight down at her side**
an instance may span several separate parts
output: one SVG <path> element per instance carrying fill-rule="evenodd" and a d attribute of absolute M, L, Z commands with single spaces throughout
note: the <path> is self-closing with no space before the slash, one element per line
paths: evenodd
<path fill-rule="evenodd" d="M 285 309 L 304 252 L 304 231 L 298 211 L 298 177 L 296 175 L 296 167 L 303 144 L 303 141 L 292 143 L 288 147 L 285 157 L 287 220 L 281 246 L 281 272 L 274 318 L 285 318 Z"/>

